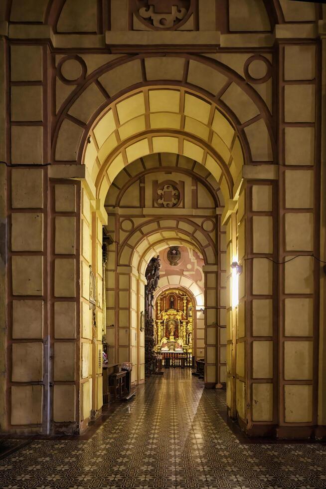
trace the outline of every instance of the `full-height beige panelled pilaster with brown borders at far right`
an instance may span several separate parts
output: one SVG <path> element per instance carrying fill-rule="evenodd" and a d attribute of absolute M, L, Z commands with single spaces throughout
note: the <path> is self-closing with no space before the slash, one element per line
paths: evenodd
<path fill-rule="evenodd" d="M 293 30 L 285 35 L 294 37 Z M 320 257 L 319 59 L 319 44 L 311 39 L 280 41 L 279 261 L 286 263 L 279 281 L 279 437 L 308 438 L 318 424 L 322 264 L 313 255 Z"/>

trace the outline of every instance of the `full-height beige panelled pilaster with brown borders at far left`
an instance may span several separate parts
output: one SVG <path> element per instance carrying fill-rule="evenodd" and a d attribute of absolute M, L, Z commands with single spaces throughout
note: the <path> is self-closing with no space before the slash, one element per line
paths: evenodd
<path fill-rule="evenodd" d="M 5 80 L 8 98 L 0 104 L 1 122 L 4 121 L 2 111 L 7 118 L 6 124 L 0 125 L 8 128 L 0 152 L 2 161 L 15 166 L 7 170 L 7 220 L 11 230 L 7 269 L 8 392 L 4 412 L 5 429 L 19 433 L 31 430 L 49 433 L 52 416 L 49 196 L 48 169 L 43 166 L 49 159 L 46 124 L 43 126 L 42 122 L 47 113 L 47 97 L 43 96 L 46 93 L 46 52 L 45 44 L 19 44 L 9 48 L 1 38 L 0 57 L 7 66 L 10 80 Z M 9 82 L 12 84 L 10 115 Z M 0 97 L 3 83 L 1 79 Z M 10 147 L 7 146 L 9 141 Z"/>

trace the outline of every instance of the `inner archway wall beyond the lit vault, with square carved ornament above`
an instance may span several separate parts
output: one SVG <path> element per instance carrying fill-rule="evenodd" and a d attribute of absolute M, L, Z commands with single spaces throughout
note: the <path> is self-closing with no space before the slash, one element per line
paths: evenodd
<path fill-rule="evenodd" d="M 200 168 L 201 165 L 194 160 L 169 153 L 145 156 L 119 172 L 105 201 L 110 223 L 106 230 L 112 241 L 119 243 L 118 246 L 114 243 L 109 246 L 109 253 L 117 256 L 117 263 L 108 266 L 106 272 L 108 281 L 112 283 L 107 292 L 107 338 L 110 338 L 111 345 L 116 345 L 116 355 L 119 355 L 117 360 L 123 358 L 127 361 L 127 358 L 132 358 L 135 366 L 133 381 L 136 383 L 144 382 L 145 379 L 145 343 L 139 333 L 139 317 L 144 309 L 146 269 L 154 256 L 162 254 L 163 257 L 173 246 L 183 250 L 181 262 L 187 256 L 182 265 L 185 270 L 181 288 L 189 287 L 190 294 L 195 295 L 197 304 L 201 306 L 194 311 L 195 321 L 203 333 L 201 357 L 205 357 L 204 277 L 214 274 L 209 284 L 210 297 L 207 301 L 212 308 L 207 317 L 208 334 L 211 329 L 214 330 L 214 334 L 209 334 L 208 350 L 214 350 L 214 353 L 206 366 L 206 386 L 215 385 L 216 375 L 219 375 L 216 370 L 219 355 L 215 352 L 219 348 L 215 344 L 216 322 L 219 320 L 216 289 L 219 274 L 223 276 L 226 272 L 218 270 L 217 266 L 218 257 L 225 254 L 225 248 L 219 245 L 221 210 L 216 214 L 216 207 L 220 207 L 222 195 L 218 182 L 210 172 L 206 169 L 202 172 Z M 130 175 L 133 175 L 132 179 Z M 166 185 L 166 175 L 169 185 L 173 185 L 178 192 L 178 201 L 172 208 L 166 208 L 159 202 L 158 190 Z M 193 209 L 197 209 L 195 218 L 192 216 Z M 173 266 L 173 270 L 174 273 L 181 273 L 178 266 Z M 115 278 L 117 272 L 120 277 L 118 282 Z M 128 272 L 130 280 L 127 278 Z M 124 273 L 125 277 L 122 278 L 120 273 Z M 172 279 L 173 275 L 161 275 L 160 287 L 164 286 L 168 277 Z M 200 287 L 197 282 L 200 282 Z M 114 289 L 114 283 L 120 283 L 121 287 L 122 283 L 126 284 L 120 289 L 119 295 Z M 122 300 L 123 297 L 125 300 Z M 222 308 L 225 308 L 224 303 Z M 221 316 L 221 320 L 224 322 L 225 316 Z M 126 334 L 135 339 L 133 343 L 128 344 Z"/>

